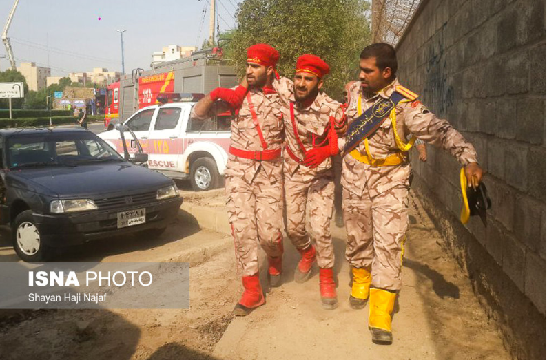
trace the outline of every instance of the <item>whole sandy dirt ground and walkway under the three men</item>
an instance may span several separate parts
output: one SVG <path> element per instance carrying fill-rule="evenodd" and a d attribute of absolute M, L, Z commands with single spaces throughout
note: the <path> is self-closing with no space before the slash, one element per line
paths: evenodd
<path fill-rule="evenodd" d="M 368 307 L 351 310 L 347 305 L 344 231 L 333 227 L 336 310 L 320 306 L 317 269 L 307 283 L 293 282 L 298 255 L 285 240 L 285 283 L 249 317 L 233 318 L 240 295 L 234 250 L 224 235 L 190 232 L 192 246 L 203 240 L 221 247 L 212 257 L 191 261 L 189 309 L 12 313 L 0 320 L 0 359 L 510 359 L 468 280 L 437 244 L 439 235 L 429 218 L 419 204 L 413 205 L 392 346 L 371 343 Z M 182 261 L 179 246 L 162 242 L 157 254 Z M 102 260 L 145 261 L 145 253 L 127 255 L 123 248 Z"/>

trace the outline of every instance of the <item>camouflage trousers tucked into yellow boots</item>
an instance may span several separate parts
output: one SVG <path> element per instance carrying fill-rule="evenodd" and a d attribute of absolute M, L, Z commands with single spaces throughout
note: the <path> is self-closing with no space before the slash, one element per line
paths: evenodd
<path fill-rule="evenodd" d="M 401 184 L 373 198 L 366 188 L 361 196 L 347 189 L 342 195 L 349 264 L 371 271 L 373 287 L 400 290 L 409 188 Z"/>

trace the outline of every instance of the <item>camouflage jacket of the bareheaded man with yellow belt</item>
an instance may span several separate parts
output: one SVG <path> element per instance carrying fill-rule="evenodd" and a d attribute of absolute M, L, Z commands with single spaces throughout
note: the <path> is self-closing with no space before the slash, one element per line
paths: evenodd
<path fill-rule="evenodd" d="M 353 84 L 350 89 L 350 100 L 347 109 L 348 123 L 351 124 L 358 114 L 358 99 L 362 96 L 362 111 L 366 111 L 379 98 L 389 98 L 395 86 L 399 85 L 397 79 L 378 94 L 367 97 L 362 93 L 360 83 Z M 454 129 L 446 120 L 437 118 L 419 100 L 400 102 L 395 106 L 397 132 L 402 139 L 409 138 L 411 134 L 435 147 L 451 153 L 462 165 L 469 162 L 477 162 L 477 152 L 471 143 L 467 142 L 462 134 Z M 339 140 L 339 147 L 343 149 L 344 139 Z M 366 154 L 364 142 L 356 148 L 360 153 Z M 400 152 L 395 143 L 393 126 L 389 118 L 386 118 L 378 130 L 369 138 L 369 149 L 374 158 L 385 158 L 393 153 Z M 398 184 L 409 184 L 410 163 L 401 165 L 372 167 L 355 160 L 350 154 L 344 155 L 342 169 L 342 186 L 349 191 L 362 195 L 367 187 L 371 196 L 383 193 Z"/>

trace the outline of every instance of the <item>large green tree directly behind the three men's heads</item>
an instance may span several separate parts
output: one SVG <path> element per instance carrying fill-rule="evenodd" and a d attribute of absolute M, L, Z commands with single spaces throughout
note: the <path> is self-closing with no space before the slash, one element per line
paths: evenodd
<path fill-rule="evenodd" d="M 267 43 L 280 52 L 278 72 L 288 77 L 298 56 L 316 54 L 331 67 L 324 89 L 341 99 L 345 83 L 357 79 L 359 54 L 371 41 L 369 6 L 365 0 L 244 0 L 228 54 L 242 76 L 247 47 Z"/>

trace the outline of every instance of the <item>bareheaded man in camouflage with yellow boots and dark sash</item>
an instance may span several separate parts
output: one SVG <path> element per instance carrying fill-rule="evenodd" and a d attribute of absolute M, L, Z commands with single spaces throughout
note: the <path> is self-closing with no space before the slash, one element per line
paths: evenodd
<path fill-rule="evenodd" d="M 360 83 L 351 87 L 347 109 L 350 129 L 362 112 L 394 92 L 403 98 L 372 135 L 363 138 L 355 149 L 345 151 L 342 169 L 346 257 L 353 273 L 350 306 L 363 308 L 370 297 L 373 342 L 391 343 L 391 314 L 402 286 L 402 256 L 408 228 L 411 165 L 406 151 L 413 142 L 405 144 L 401 139 L 412 134 L 450 152 L 465 166 L 468 184 L 475 187 L 482 179 L 482 169 L 477 165 L 473 145 L 446 120 L 429 112 L 416 94 L 399 84 L 395 77 L 397 58 L 391 45 L 369 45 L 360 58 Z M 342 149 L 345 140 L 339 140 Z"/>

